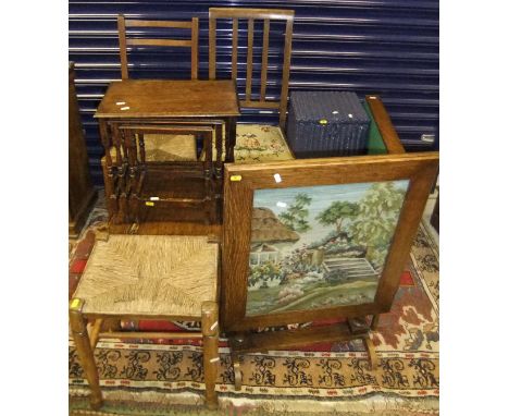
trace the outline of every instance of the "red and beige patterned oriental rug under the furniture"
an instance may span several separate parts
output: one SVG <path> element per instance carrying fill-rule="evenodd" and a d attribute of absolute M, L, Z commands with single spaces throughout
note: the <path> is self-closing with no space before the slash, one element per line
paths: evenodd
<path fill-rule="evenodd" d="M 94 231 L 105 219 L 105 210 L 96 208 L 83 237 L 70 243 L 70 297 L 94 245 Z M 123 322 L 125 330 L 195 327 L 193 322 Z M 204 391 L 201 348 L 185 340 L 99 342 L 95 354 L 105 404 L 100 412 L 91 412 L 87 381 L 70 340 L 70 411 L 154 416 L 438 414 L 438 248 L 422 224 L 393 309 L 381 316 L 372 340 L 380 362 L 374 371 L 360 341 L 245 355 L 238 392 L 233 386 L 229 350 L 222 340 L 216 412 L 200 407 Z"/>

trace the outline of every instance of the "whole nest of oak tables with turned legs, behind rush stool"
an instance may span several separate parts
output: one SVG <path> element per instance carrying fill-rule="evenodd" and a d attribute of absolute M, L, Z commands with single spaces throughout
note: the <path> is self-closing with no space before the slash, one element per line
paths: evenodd
<path fill-rule="evenodd" d="M 116 223 L 125 222 L 129 192 L 134 186 L 137 186 L 133 183 L 129 184 L 129 181 L 132 182 L 136 178 L 136 170 L 140 167 L 137 147 L 144 146 L 141 140 L 138 145 L 136 143 L 134 145 L 126 144 L 122 139 L 122 127 L 129 124 L 138 126 L 177 125 L 179 129 L 187 129 L 186 134 L 193 134 L 194 127 L 197 129 L 197 134 L 199 134 L 199 129 L 203 129 L 203 126 L 214 129 L 218 156 L 212 174 L 215 184 L 215 200 L 219 203 L 222 195 L 223 127 L 224 161 L 233 162 L 238 115 L 240 115 L 240 111 L 236 85 L 232 79 L 124 79 L 112 82 L 95 114 L 95 118 L 99 120 L 101 143 L 105 152 L 104 189 L 110 219 Z M 139 150 L 141 154 L 145 151 L 145 149 Z M 196 163 L 202 164 L 199 161 Z M 145 161 L 142 164 L 141 168 L 145 168 Z M 183 171 L 185 172 L 186 169 Z M 161 183 L 163 182 L 161 181 Z M 188 188 L 190 189 L 191 186 Z M 172 195 L 170 199 L 175 201 L 178 198 Z M 184 195 L 182 200 L 188 200 L 188 195 Z M 163 201 L 149 204 L 151 206 L 162 205 Z"/>

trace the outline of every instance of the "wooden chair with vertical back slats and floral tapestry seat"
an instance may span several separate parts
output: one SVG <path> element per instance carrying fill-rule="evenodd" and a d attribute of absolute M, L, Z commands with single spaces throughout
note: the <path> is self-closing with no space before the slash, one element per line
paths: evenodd
<path fill-rule="evenodd" d="M 238 90 L 239 94 L 244 93 L 244 99 L 241 99 L 240 107 L 247 109 L 260 109 L 260 110 L 277 110 L 280 113 L 278 127 L 270 125 L 252 125 L 250 129 L 249 124 L 240 124 L 237 131 L 237 143 L 235 148 L 235 160 L 243 163 L 248 162 L 260 162 L 269 161 L 266 158 L 270 157 L 271 161 L 274 160 L 287 160 L 293 159 L 291 152 L 286 146 L 284 138 L 284 130 L 286 122 L 286 110 L 288 101 L 288 81 L 290 70 L 290 57 L 291 57 L 291 37 L 294 26 L 293 10 L 277 10 L 277 9 L 244 9 L 244 8 L 211 8 L 209 9 L 209 78 L 215 79 L 218 75 L 223 75 L 216 70 L 218 58 L 216 58 L 216 27 L 218 21 L 228 20 L 232 22 L 232 79 L 240 81 L 244 74 L 239 68 L 239 40 L 244 38 L 239 35 L 239 27 L 247 25 L 247 39 L 246 39 L 246 85 L 244 91 Z M 247 22 L 246 22 L 247 21 Z M 261 41 L 261 56 L 257 57 L 256 50 L 256 25 L 258 22 L 263 23 L 263 33 Z M 274 30 L 276 22 L 285 23 L 284 30 Z M 272 30 L 271 30 L 272 23 Z M 280 26 L 277 24 L 277 26 Z M 270 47 L 270 39 L 284 40 L 284 48 L 276 49 Z M 275 63 L 275 58 L 270 57 L 271 52 L 277 52 L 280 62 Z M 258 63 L 256 60 L 260 60 L 259 71 L 259 85 L 260 88 L 254 88 L 258 84 L 258 79 L 254 79 L 254 75 L 258 73 L 256 68 Z M 276 79 L 273 77 L 270 79 L 271 72 L 269 60 L 271 58 L 271 64 L 282 68 L 281 78 Z M 274 62 L 272 62 L 274 61 Z M 240 82 L 239 82 L 240 84 Z M 275 97 L 268 96 L 268 86 L 276 85 L 281 86 L 278 95 Z M 261 129 L 262 127 L 262 129 Z M 252 132 L 251 132 L 252 130 Z M 262 133 L 260 133 L 262 132 Z M 266 133 L 266 135 L 264 134 Z M 275 137 L 275 138 L 274 138 Z M 252 143 L 252 145 L 251 145 Z M 261 147 L 282 148 L 284 151 L 281 155 L 274 157 L 273 151 L 251 151 L 259 144 Z M 260 146 L 258 146 L 260 147 Z M 247 151 L 246 151 L 247 150 Z"/>

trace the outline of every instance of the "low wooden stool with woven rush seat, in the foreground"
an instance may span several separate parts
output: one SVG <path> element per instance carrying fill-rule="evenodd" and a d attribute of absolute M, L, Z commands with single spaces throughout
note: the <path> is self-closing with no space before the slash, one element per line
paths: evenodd
<path fill-rule="evenodd" d="M 105 240 L 105 241 L 104 241 Z M 96 245 L 70 303 L 71 331 L 90 387 L 102 405 L 94 348 L 100 339 L 201 339 L 206 403 L 218 405 L 219 244 L 207 236 L 110 235 Z M 104 330 L 120 319 L 194 320 L 201 332 Z M 87 328 L 87 322 L 94 321 Z"/>

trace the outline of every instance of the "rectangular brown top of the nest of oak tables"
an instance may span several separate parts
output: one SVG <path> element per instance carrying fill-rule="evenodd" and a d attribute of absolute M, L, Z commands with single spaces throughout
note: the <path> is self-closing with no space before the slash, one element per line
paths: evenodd
<path fill-rule="evenodd" d="M 240 115 L 235 83 L 125 79 L 112 82 L 96 118 L 203 118 Z"/>

